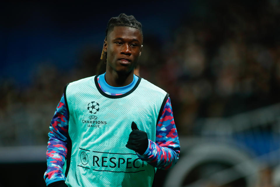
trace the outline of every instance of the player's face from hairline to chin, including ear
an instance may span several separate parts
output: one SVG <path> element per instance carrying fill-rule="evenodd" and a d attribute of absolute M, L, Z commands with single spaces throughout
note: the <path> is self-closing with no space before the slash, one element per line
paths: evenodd
<path fill-rule="evenodd" d="M 104 41 L 107 52 L 106 71 L 130 73 L 137 65 L 141 55 L 143 37 L 138 29 L 114 27 Z"/>

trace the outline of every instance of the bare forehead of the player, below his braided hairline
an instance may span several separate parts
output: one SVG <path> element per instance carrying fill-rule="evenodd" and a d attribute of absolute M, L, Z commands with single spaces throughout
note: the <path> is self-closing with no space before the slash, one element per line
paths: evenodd
<path fill-rule="evenodd" d="M 137 39 L 143 42 L 143 37 L 138 29 L 132 27 L 115 26 L 114 29 L 107 36 L 109 39 L 123 38 L 123 39 Z"/>

